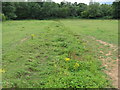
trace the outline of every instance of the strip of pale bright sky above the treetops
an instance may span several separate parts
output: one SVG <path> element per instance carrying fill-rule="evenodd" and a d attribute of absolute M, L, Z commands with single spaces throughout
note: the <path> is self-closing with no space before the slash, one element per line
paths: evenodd
<path fill-rule="evenodd" d="M 52 1 L 60 3 L 63 0 L 52 0 Z M 89 4 L 89 2 L 90 2 L 90 0 L 65 0 L 65 1 L 72 2 L 72 3 L 78 2 L 78 3 L 86 3 L 86 4 Z M 93 1 L 96 1 L 96 2 L 113 2 L 115 0 L 93 0 Z"/>

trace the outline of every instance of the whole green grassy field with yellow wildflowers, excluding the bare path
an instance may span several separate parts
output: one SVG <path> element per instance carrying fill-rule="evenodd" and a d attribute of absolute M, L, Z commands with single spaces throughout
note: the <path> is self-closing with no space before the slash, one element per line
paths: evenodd
<path fill-rule="evenodd" d="M 114 87 L 98 58 L 96 48 L 101 44 L 90 37 L 117 46 L 117 23 L 79 19 L 3 22 L 3 87 Z M 108 46 L 102 50 L 107 52 Z"/>

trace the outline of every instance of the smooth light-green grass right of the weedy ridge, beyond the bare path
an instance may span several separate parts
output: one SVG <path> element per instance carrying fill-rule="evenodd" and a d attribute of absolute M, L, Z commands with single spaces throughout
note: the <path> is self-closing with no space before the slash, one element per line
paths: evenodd
<path fill-rule="evenodd" d="M 60 20 L 69 30 L 118 45 L 118 20 Z"/>

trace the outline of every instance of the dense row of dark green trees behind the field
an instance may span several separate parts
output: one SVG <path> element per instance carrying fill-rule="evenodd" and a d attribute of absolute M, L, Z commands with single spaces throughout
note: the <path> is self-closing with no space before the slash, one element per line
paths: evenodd
<path fill-rule="evenodd" d="M 113 4 L 89 5 L 70 2 L 2 2 L 3 19 L 53 19 L 53 18 L 85 18 L 85 19 L 119 19 L 120 1 Z"/>

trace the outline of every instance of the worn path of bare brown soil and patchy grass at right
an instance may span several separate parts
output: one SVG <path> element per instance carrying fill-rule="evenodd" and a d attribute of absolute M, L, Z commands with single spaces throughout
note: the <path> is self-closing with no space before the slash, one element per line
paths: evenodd
<path fill-rule="evenodd" d="M 99 56 L 98 58 L 102 61 L 105 67 L 104 72 L 109 76 L 112 81 L 113 86 L 118 87 L 118 47 L 109 44 L 107 42 L 97 40 L 93 37 L 87 39 L 88 43 L 92 43 L 90 46 L 95 50 L 95 54 Z M 98 45 L 95 47 L 94 45 Z"/>

